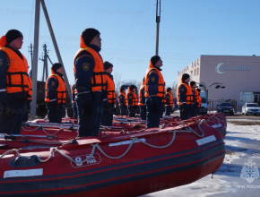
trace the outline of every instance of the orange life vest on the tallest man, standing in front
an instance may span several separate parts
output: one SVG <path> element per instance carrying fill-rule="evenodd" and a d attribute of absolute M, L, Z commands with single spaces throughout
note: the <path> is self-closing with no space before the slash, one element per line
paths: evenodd
<path fill-rule="evenodd" d="M 82 39 L 81 36 L 81 42 L 80 42 L 80 49 L 74 56 L 74 76 L 76 74 L 76 68 L 75 68 L 75 60 L 78 58 L 79 54 L 85 50 L 91 54 L 91 57 L 94 58 L 95 62 L 95 67 L 93 70 L 92 78 L 91 78 L 91 91 L 100 91 L 100 90 L 107 90 L 107 80 L 106 80 L 106 75 L 104 72 L 104 65 L 103 65 L 103 60 L 101 56 L 91 47 L 87 47 Z M 85 55 L 87 56 L 87 55 Z M 89 69 L 88 64 L 82 65 L 84 66 L 83 69 Z"/>

